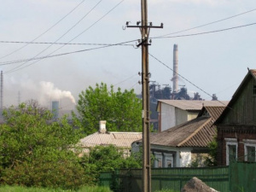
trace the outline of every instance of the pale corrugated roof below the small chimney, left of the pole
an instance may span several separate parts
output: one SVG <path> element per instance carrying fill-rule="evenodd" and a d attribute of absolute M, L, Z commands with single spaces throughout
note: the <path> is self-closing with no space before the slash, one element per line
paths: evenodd
<path fill-rule="evenodd" d="M 131 148 L 131 143 L 142 139 L 141 132 L 96 132 L 80 140 L 82 147 L 90 148 L 96 145 L 113 144 L 120 148 Z"/>

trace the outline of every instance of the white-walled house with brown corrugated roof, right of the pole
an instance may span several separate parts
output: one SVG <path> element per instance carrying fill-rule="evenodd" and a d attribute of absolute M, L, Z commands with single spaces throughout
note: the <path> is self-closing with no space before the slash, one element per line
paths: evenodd
<path fill-rule="evenodd" d="M 207 144 L 216 136 L 212 126 L 224 107 L 204 107 L 198 117 L 166 131 L 150 136 L 150 150 L 155 156 L 154 167 L 189 166 L 195 159 L 203 159 L 208 153 Z M 142 141 L 132 143 L 136 152 Z"/>

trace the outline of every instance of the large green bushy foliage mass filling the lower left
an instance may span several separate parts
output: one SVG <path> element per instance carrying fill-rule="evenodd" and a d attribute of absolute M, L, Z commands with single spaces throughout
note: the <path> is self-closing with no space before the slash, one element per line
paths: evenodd
<path fill-rule="evenodd" d="M 49 111 L 25 103 L 3 115 L 0 184 L 73 189 L 88 180 L 78 156 L 70 150 L 79 142 L 79 132 L 66 118 L 51 122 Z"/>

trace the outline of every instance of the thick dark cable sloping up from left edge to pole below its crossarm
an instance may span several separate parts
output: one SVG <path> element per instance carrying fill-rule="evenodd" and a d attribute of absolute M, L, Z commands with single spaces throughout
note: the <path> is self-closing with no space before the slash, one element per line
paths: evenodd
<path fill-rule="evenodd" d="M 137 40 L 132 40 L 132 41 L 127 41 L 127 42 L 123 42 L 123 43 L 119 43 L 119 44 L 109 44 L 109 45 L 105 45 L 105 46 L 102 46 L 102 47 L 96 47 L 96 48 L 90 48 L 90 49 L 81 49 L 81 50 L 76 50 L 76 51 L 57 54 L 57 55 L 46 55 L 46 56 L 41 56 L 41 57 L 33 57 L 33 58 L 30 58 L 30 59 L 25 59 L 25 60 L 16 60 L 16 61 L 9 61 L 9 62 L 2 62 L 2 63 L 0 62 L 0 66 L 15 64 L 15 63 L 24 62 L 24 61 L 26 61 L 26 62 L 27 61 L 34 61 L 34 60 L 40 61 L 40 60 L 46 59 L 46 58 L 62 56 L 62 55 L 70 55 L 70 54 L 75 54 L 75 53 L 81 53 L 81 52 L 95 50 L 95 49 L 104 49 L 104 48 L 108 48 L 108 47 L 112 47 L 112 46 L 117 46 L 117 45 L 120 45 L 120 44 L 128 44 L 128 43 L 131 43 L 131 42 L 136 42 L 136 41 Z M 32 65 L 32 64 L 30 64 L 30 65 Z M 9 73 L 9 72 L 6 72 L 6 73 Z"/>

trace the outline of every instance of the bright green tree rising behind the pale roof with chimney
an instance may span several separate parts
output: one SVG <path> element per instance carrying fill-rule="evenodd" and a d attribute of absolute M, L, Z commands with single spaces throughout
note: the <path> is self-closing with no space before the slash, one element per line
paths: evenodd
<path fill-rule="evenodd" d="M 87 134 L 97 131 L 100 120 L 107 120 L 108 131 L 142 131 L 142 101 L 134 90 L 115 92 L 113 86 L 96 84 L 79 94 L 77 108 Z"/>

